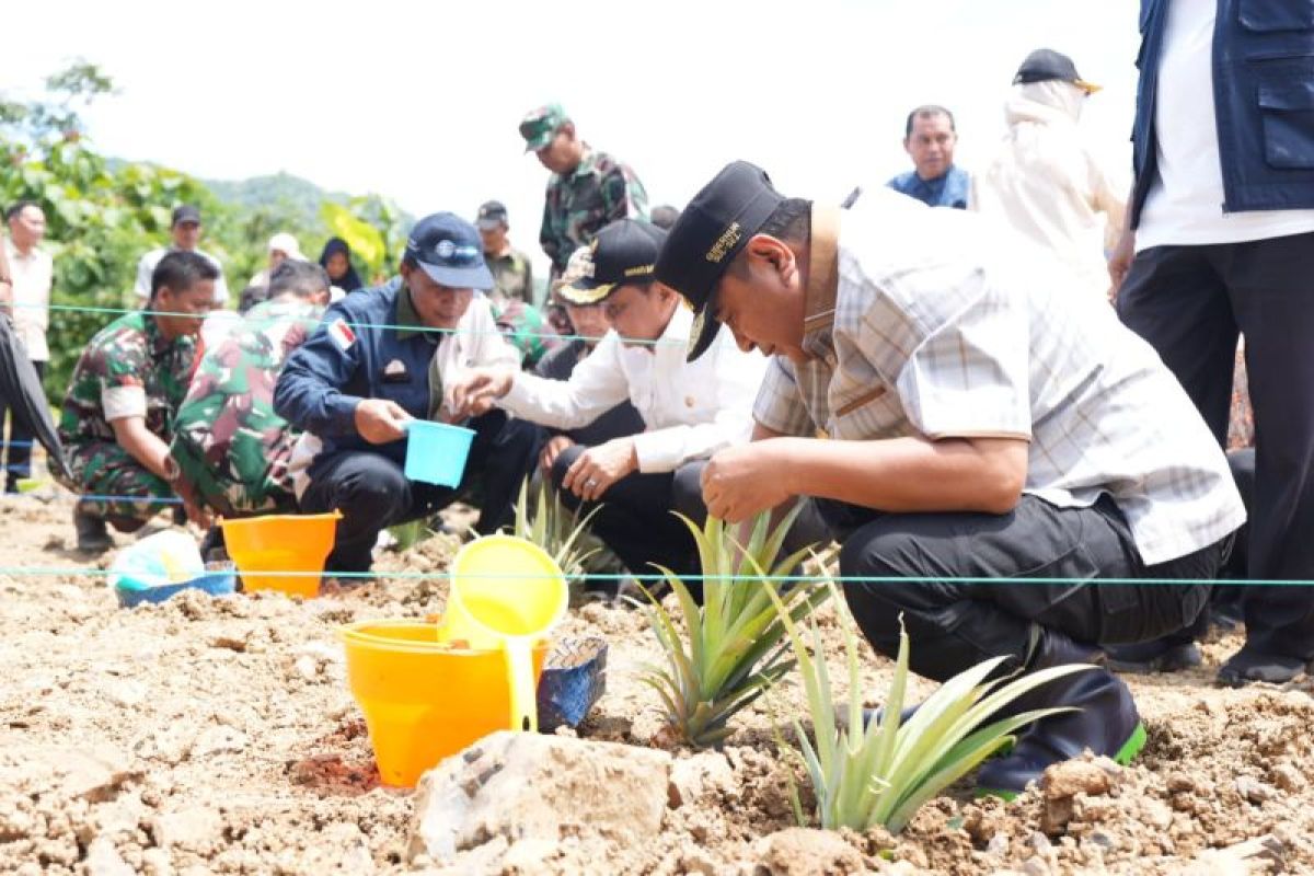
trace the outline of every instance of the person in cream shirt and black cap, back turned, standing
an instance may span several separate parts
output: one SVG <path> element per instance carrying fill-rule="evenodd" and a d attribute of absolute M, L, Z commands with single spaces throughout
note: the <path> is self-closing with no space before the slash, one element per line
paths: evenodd
<path fill-rule="evenodd" d="M 986 171 L 972 176 L 968 206 L 1062 259 L 1080 278 L 1079 294 L 1106 301 L 1104 253 L 1122 231 L 1126 180 L 1112 180 L 1077 127 L 1087 97 L 1099 88 L 1067 55 L 1029 54 L 1004 104 L 1008 135 Z"/>

